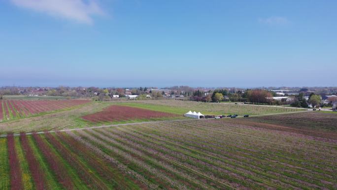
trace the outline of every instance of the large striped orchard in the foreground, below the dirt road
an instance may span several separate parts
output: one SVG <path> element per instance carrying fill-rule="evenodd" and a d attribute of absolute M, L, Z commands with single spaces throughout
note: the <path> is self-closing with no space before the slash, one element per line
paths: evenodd
<path fill-rule="evenodd" d="M 0 138 L 0 188 L 9 190 L 15 182 L 46 190 L 337 189 L 336 138 L 240 122 L 203 119 L 9 135 Z"/>

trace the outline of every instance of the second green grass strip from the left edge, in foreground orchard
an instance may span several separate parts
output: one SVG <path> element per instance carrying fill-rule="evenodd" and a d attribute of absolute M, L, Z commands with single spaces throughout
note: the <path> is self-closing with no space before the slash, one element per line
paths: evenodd
<path fill-rule="evenodd" d="M 25 190 L 34 190 L 35 188 L 33 184 L 33 179 L 31 177 L 31 172 L 27 160 L 25 159 L 25 155 L 23 153 L 19 137 L 15 137 L 14 141 L 15 141 L 15 151 L 17 152 L 22 171 L 23 187 Z"/>

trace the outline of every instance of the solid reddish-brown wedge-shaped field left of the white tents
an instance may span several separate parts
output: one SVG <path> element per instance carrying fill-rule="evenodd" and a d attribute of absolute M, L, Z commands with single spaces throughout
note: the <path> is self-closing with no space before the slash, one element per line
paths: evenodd
<path fill-rule="evenodd" d="M 113 105 L 105 108 L 101 112 L 84 115 L 82 118 L 91 122 L 100 122 L 100 121 L 121 121 L 130 119 L 174 117 L 174 116 L 176 115 L 141 108 Z"/>

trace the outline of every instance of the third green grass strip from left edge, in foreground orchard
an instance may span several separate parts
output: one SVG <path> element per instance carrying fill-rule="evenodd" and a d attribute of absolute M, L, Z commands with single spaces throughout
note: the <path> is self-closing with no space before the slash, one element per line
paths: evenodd
<path fill-rule="evenodd" d="M 37 162 L 40 164 L 42 172 L 44 174 L 45 183 L 48 190 L 65 190 L 61 184 L 58 183 L 54 172 L 48 166 L 46 158 L 42 155 L 42 152 L 37 148 L 32 135 L 27 136 L 30 147 L 33 150 Z"/>

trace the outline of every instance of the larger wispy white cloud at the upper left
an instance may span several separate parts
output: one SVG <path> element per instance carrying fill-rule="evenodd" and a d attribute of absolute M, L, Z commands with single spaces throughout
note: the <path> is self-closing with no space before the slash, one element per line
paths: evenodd
<path fill-rule="evenodd" d="M 15 5 L 44 12 L 52 16 L 75 20 L 81 23 L 93 23 L 93 15 L 103 15 L 101 7 L 89 0 L 11 0 Z"/>

